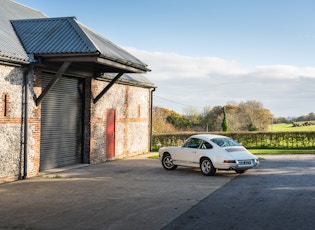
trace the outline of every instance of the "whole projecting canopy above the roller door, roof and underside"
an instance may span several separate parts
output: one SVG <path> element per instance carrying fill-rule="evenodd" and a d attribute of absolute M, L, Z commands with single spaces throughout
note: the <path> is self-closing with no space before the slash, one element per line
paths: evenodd
<path fill-rule="evenodd" d="M 30 62 L 64 73 L 99 77 L 103 73 L 145 73 L 139 59 L 80 23 L 75 17 L 11 20 Z"/>

